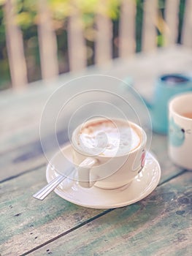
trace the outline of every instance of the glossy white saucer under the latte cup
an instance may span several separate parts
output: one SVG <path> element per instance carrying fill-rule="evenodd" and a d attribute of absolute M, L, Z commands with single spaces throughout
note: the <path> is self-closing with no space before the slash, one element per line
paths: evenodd
<path fill-rule="evenodd" d="M 68 159 L 72 159 L 72 146 L 65 146 L 62 152 Z M 56 165 L 61 164 L 65 166 L 64 157 L 61 155 L 61 153 L 55 154 L 52 159 L 52 165 L 56 163 Z M 58 176 L 58 173 L 53 170 L 53 167 L 47 165 L 47 182 L 52 181 L 55 176 Z M 136 203 L 147 197 L 157 187 L 160 177 L 161 168 L 158 161 L 148 152 L 145 167 L 143 167 L 142 172 L 134 178 L 131 184 L 118 189 L 99 189 L 94 186 L 91 189 L 84 189 L 78 185 L 74 177 L 74 180 L 66 178 L 54 191 L 60 197 L 79 206 L 89 208 L 118 208 Z"/>

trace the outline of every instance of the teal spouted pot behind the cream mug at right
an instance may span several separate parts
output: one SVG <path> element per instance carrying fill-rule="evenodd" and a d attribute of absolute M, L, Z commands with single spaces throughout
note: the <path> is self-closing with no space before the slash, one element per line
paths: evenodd
<path fill-rule="evenodd" d="M 145 103 L 150 110 L 153 131 L 166 134 L 168 131 L 168 102 L 176 94 L 192 91 L 192 79 L 186 75 L 161 75 L 155 83 L 152 102 Z"/>

